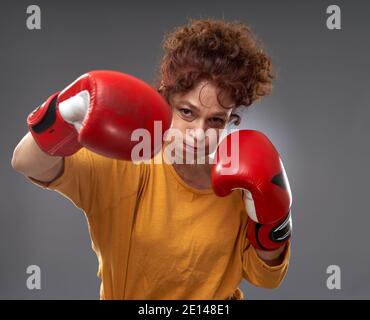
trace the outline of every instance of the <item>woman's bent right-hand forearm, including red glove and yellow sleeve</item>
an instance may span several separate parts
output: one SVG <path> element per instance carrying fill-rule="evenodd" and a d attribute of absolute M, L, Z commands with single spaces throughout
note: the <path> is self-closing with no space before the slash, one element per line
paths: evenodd
<path fill-rule="evenodd" d="M 235 169 L 231 175 L 226 174 L 230 160 L 222 153 L 227 149 L 219 146 L 220 153 L 212 168 L 213 188 L 220 196 L 234 189 L 242 190 L 249 216 L 244 276 L 257 286 L 276 287 L 289 262 L 292 202 L 289 181 L 277 150 L 263 134 L 241 130 L 221 142 L 233 143 L 239 144 L 236 149 L 240 150 L 235 154 Z"/>

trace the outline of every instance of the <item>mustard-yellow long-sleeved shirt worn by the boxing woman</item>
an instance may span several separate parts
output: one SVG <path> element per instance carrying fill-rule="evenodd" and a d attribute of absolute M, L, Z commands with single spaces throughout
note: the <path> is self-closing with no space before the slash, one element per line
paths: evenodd
<path fill-rule="evenodd" d="M 82 148 L 54 181 L 29 179 L 85 213 L 101 299 L 223 300 L 243 278 L 275 288 L 288 269 L 290 243 L 273 267 L 249 244 L 240 190 L 217 197 L 194 189 L 164 162 L 135 164 Z"/>

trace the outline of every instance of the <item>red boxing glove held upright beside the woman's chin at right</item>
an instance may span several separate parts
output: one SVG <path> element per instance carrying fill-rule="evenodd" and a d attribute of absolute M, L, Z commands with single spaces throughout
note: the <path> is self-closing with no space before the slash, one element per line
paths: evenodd
<path fill-rule="evenodd" d="M 236 152 L 230 154 L 233 143 Z M 292 228 L 289 181 L 277 150 L 264 134 L 254 130 L 229 134 L 217 148 L 211 178 L 219 196 L 243 189 L 250 218 L 247 235 L 254 247 L 275 250 L 288 241 Z"/>

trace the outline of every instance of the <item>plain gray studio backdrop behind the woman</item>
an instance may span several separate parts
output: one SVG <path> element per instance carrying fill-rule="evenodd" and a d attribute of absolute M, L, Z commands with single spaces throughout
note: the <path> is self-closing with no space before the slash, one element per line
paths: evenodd
<path fill-rule="evenodd" d="M 294 195 L 294 238 L 279 289 L 249 299 L 370 298 L 370 2 L 335 1 L 342 30 L 326 28 L 333 1 L 1 1 L 0 298 L 97 299 L 97 259 L 83 214 L 57 193 L 12 170 L 27 115 L 92 69 L 117 69 L 152 82 L 163 34 L 187 18 L 249 24 L 274 59 L 273 94 L 249 112 L 250 128 L 280 150 Z M 42 30 L 26 28 L 38 4 Z M 26 267 L 42 289 L 26 288 Z M 328 290 L 339 265 L 342 289 Z"/>

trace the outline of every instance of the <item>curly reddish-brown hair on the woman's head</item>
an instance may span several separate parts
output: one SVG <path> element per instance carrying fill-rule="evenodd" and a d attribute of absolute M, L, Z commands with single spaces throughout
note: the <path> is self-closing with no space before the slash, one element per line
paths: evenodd
<path fill-rule="evenodd" d="M 243 23 L 190 19 L 165 35 L 157 90 L 169 102 L 200 80 L 230 94 L 235 106 L 250 106 L 272 90 L 271 59 Z M 219 94 L 217 96 L 218 101 Z M 220 103 L 220 105 L 222 105 Z"/>

